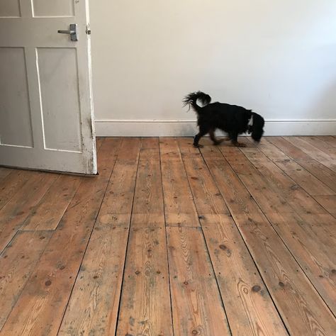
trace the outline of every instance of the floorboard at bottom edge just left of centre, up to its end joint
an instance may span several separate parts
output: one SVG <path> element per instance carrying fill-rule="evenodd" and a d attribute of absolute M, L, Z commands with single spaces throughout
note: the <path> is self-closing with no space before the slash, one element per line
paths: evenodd
<path fill-rule="evenodd" d="M 173 335 L 163 223 L 130 230 L 116 335 Z"/>

